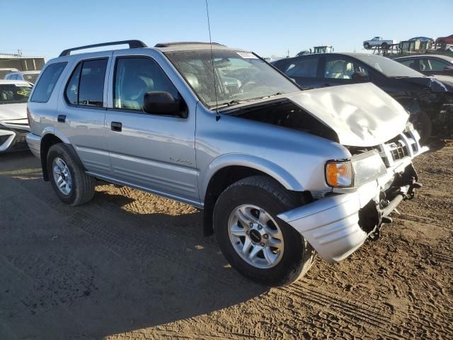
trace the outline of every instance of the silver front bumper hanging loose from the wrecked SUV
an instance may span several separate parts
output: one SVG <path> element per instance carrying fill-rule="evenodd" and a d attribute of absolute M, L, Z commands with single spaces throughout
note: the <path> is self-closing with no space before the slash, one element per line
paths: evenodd
<path fill-rule="evenodd" d="M 380 154 L 387 165 L 387 174 L 359 188 L 334 189 L 331 196 L 283 212 L 277 217 L 294 227 L 328 262 L 338 262 L 359 248 L 369 236 L 359 225 L 359 211 L 370 200 L 379 202 L 379 193 L 393 181 L 396 173 L 405 171 L 413 157 L 428 150 L 420 147 L 416 131 L 401 134 L 408 156 L 392 156 L 394 147 L 382 145 Z M 404 189 L 402 188 L 402 191 Z"/>

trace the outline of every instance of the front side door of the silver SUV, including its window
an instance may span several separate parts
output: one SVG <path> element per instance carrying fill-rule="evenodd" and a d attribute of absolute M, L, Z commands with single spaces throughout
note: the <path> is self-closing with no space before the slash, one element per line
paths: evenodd
<path fill-rule="evenodd" d="M 117 55 L 113 108 L 105 118 L 113 176 L 158 195 L 199 203 L 195 112 L 188 112 L 187 118 L 145 113 L 144 95 L 151 91 L 165 91 L 183 101 L 151 57 Z"/>

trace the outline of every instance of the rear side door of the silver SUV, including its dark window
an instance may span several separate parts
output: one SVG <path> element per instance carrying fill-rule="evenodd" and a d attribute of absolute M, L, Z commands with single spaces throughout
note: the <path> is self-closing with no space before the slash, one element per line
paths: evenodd
<path fill-rule="evenodd" d="M 105 140 L 107 70 L 112 52 L 80 57 L 64 79 L 55 129 L 66 136 L 85 168 L 95 174 L 110 175 L 110 157 Z"/>

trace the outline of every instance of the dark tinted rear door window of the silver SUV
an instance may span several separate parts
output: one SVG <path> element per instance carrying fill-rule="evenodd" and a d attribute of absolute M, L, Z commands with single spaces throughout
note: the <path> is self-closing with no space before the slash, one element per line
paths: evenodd
<path fill-rule="evenodd" d="M 107 59 L 80 62 L 66 86 L 68 103 L 83 106 L 103 106 L 104 79 Z"/>

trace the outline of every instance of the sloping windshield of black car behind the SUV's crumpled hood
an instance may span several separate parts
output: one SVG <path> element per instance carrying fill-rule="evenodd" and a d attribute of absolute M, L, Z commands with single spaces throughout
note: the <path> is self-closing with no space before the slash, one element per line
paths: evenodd
<path fill-rule="evenodd" d="M 354 55 L 358 60 L 365 62 L 373 69 L 383 73 L 387 77 L 425 77 L 420 72 L 404 66 L 399 62 L 395 62 L 380 55 Z"/>

